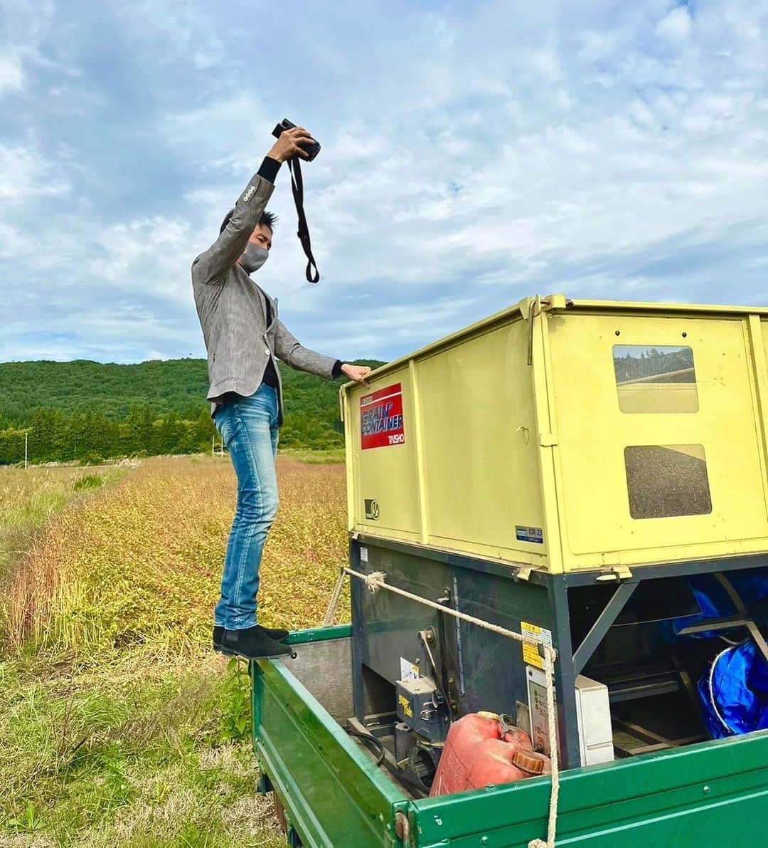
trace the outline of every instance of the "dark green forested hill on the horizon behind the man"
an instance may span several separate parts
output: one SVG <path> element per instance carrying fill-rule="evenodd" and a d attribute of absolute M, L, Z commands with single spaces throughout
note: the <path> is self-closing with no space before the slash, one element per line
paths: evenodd
<path fill-rule="evenodd" d="M 282 444 L 341 444 L 340 381 L 282 364 L 280 373 L 285 396 Z M 32 459 L 38 461 L 210 447 L 207 385 L 205 360 L 0 363 L 0 464 L 23 458 L 19 434 L 25 428 L 30 428 Z"/>

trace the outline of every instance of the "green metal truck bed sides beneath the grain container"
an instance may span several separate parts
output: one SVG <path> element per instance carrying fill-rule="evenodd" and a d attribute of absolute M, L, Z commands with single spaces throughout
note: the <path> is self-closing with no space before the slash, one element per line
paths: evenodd
<path fill-rule="evenodd" d="M 549 778 L 413 800 L 342 726 L 349 626 L 295 633 L 295 661 L 251 664 L 262 791 L 303 848 L 525 848 L 546 834 Z M 557 845 L 768 845 L 768 732 L 561 775 Z M 755 834 L 759 834 L 755 836 Z"/>

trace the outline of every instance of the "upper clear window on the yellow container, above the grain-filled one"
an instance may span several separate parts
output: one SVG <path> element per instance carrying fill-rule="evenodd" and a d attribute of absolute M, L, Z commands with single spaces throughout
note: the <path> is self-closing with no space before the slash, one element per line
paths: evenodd
<path fill-rule="evenodd" d="M 615 344 L 613 369 L 622 412 L 698 412 L 693 350 Z"/>

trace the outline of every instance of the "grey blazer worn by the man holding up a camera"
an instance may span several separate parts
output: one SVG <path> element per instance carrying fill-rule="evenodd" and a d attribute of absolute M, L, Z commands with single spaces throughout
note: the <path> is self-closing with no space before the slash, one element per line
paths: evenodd
<path fill-rule="evenodd" d="M 332 379 L 336 360 L 316 354 L 291 336 L 279 321 L 277 301 L 263 292 L 237 261 L 273 190 L 273 183 L 258 174 L 253 176 L 224 232 L 192 263 L 192 290 L 208 354 L 207 399 L 212 401 L 212 415 L 224 393 L 253 394 L 272 356 L 297 371 Z M 267 302 L 272 308 L 269 326 Z M 275 371 L 279 381 L 276 366 Z M 278 398 L 282 422 L 282 385 Z"/>

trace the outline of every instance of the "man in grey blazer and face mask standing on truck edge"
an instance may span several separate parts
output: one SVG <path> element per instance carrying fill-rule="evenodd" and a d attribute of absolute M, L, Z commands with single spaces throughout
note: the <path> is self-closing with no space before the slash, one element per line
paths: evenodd
<path fill-rule="evenodd" d="M 312 139 L 302 127 L 282 133 L 224 218 L 216 241 L 192 263 L 192 289 L 208 355 L 207 399 L 237 476 L 237 509 L 229 533 L 213 647 L 248 659 L 290 654 L 287 630 L 256 621 L 262 550 L 278 508 L 275 454 L 283 421 L 274 357 L 327 380 L 345 374 L 365 382 L 370 368 L 342 364 L 303 347 L 279 321 L 277 300 L 251 273 L 267 261 L 274 215 L 265 211 L 280 165 Z"/>

